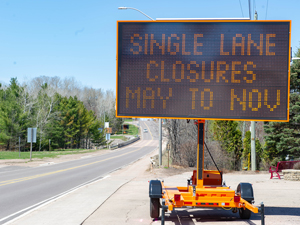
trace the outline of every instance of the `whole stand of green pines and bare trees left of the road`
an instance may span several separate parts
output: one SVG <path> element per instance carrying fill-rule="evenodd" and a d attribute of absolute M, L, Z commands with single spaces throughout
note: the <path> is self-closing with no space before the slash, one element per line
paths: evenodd
<path fill-rule="evenodd" d="M 28 127 L 38 128 L 39 150 L 48 146 L 48 139 L 54 148 L 105 144 L 104 132 L 99 132 L 104 117 L 113 130 L 121 128 L 113 91 L 81 88 L 74 78 L 40 76 L 22 86 L 12 78 L 10 85 L 0 84 L 0 145 L 8 150 L 18 137 L 26 138 Z"/>

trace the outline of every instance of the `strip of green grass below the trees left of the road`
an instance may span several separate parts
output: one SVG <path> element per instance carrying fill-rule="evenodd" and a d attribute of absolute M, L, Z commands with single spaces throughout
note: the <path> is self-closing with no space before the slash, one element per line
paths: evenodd
<path fill-rule="evenodd" d="M 32 152 L 32 158 L 42 159 L 42 158 L 55 158 L 59 155 L 70 155 L 70 154 L 80 154 L 87 152 L 95 152 L 100 150 L 87 150 L 87 149 L 64 149 L 64 150 L 56 150 L 56 151 L 40 151 Z M 13 151 L 1 151 L 0 152 L 0 160 L 2 159 L 30 159 L 30 152 L 21 152 L 21 157 L 19 157 L 19 152 Z"/>

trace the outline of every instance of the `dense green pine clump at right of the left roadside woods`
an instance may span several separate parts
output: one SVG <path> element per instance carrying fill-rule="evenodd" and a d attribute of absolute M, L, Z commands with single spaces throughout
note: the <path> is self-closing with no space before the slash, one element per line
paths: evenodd
<path fill-rule="evenodd" d="M 77 97 L 61 97 L 57 94 L 58 104 L 54 107 L 51 126 L 47 133 L 51 136 L 52 146 L 59 148 L 91 148 L 105 144 L 102 126 L 94 111 L 87 110 Z M 50 123 L 49 123 L 50 124 Z"/>

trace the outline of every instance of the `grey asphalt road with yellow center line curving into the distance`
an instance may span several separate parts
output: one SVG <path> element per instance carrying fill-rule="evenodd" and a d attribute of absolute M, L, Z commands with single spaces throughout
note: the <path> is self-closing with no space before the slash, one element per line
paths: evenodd
<path fill-rule="evenodd" d="M 101 179 L 136 161 L 158 146 L 157 123 L 140 121 L 143 142 L 101 156 L 35 168 L 0 170 L 0 224 L 62 194 Z"/>

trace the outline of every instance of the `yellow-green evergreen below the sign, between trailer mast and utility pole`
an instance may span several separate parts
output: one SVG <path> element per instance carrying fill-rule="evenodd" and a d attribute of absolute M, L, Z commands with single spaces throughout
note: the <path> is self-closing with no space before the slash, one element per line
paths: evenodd
<path fill-rule="evenodd" d="M 223 150 L 233 159 L 231 169 L 239 170 L 242 155 L 242 133 L 237 129 L 236 121 L 216 120 L 213 124 L 215 140 L 219 141 Z"/>

